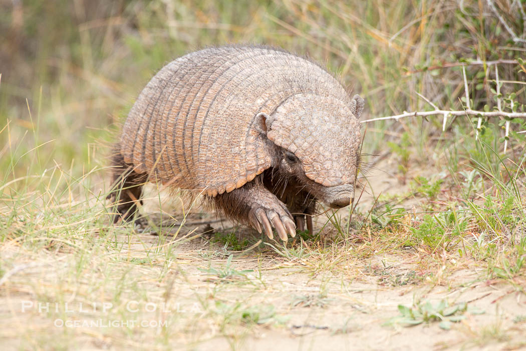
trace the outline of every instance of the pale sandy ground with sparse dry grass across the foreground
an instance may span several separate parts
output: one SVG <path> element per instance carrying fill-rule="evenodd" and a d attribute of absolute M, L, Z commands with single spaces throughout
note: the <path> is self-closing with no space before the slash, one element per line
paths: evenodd
<path fill-rule="evenodd" d="M 381 168 L 391 166 L 385 161 Z M 400 193 L 408 187 L 379 171 L 370 174 L 369 184 L 375 195 Z M 374 201 L 370 189 L 362 201 Z M 155 201 L 145 210 L 154 208 Z M 197 215 L 189 218 L 199 220 Z M 178 238 L 189 229 L 198 233 L 199 228 L 189 226 Z M 485 268 L 476 262 L 462 261 L 451 272 L 444 267 L 438 271 L 443 277 L 413 280 L 411 274 L 422 271 L 422 261 L 412 249 L 353 260 L 351 246 L 345 260 L 322 262 L 320 256 L 287 259 L 260 243 L 235 253 L 231 263 L 236 272 L 251 272 L 221 278 L 207 272 L 228 268 L 229 253 L 219 244 L 199 237 L 179 242 L 161 239 L 146 231 L 116 238 L 121 248 L 115 252 L 105 248 L 89 254 L 62 246 L 56 251 L 33 251 L 15 241 L 4 243 L 0 255 L 8 263 L 3 268 L 9 276 L 0 283 L 2 349 L 526 349 L 526 296 L 521 287 L 485 280 Z M 88 247 L 80 241 L 77 245 Z M 130 314 L 124 307 L 130 300 L 165 302 L 172 311 L 140 309 Z M 483 313 L 463 313 L 465 318 L 449 331 L 438 322 L 412 327 L 389 323 L 400 315 L 399 305 L 441 300 L 450 305 L 466 302 L 468 311 L 476 308 Z M 107 313 L 84 313 L 78 307 L 70 313 L 41 312 L 36 307 L 22 312 L 27 301 L 58 301 L 59 309 L 64 302 L 76 306 L 106 301 L 114 308 Z M 183 307 L 174 312 L 178 303 Z M 198 308 L 189 312 L 193 306 Z M 132 315 L 166 319 L 168 325 L 164 330 L 54 325 L 57 318 L 85 321 Z"/>

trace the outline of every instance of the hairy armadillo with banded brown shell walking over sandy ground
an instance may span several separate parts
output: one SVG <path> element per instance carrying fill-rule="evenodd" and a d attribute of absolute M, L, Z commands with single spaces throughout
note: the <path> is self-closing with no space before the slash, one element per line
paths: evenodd
<path fill-rule="evenodd" d="M 200 192 L 232 220 L 286 241 L 316 201 L 352 203 L 364 100 L 312 61 L 269 47 L 207 48 L 163 67 L 113 158 L 127 220 L 146 179 Z"/>

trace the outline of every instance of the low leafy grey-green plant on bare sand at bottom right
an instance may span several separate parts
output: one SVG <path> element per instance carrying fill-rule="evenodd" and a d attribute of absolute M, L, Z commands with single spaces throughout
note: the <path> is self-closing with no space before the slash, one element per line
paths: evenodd
<path fill-rule="evenodd" d="M 386 324 L 413 326 L 422 323 L 440 322 L 440 328 L 446 330 L 451 329 L 452 323 L 460 322 L 466 318 L 463 315 L 465 312 L 472 314 L 484 313 L 477 308 L 468 308 L 465 302 L 449 306 L 446 300 L 441 300 L 437 305 L 433 305 L 431 302 L 417 302 L 412 307 L 398 305 L 398 311 L 400 311 L 401 315 L 389 319 Z"/>

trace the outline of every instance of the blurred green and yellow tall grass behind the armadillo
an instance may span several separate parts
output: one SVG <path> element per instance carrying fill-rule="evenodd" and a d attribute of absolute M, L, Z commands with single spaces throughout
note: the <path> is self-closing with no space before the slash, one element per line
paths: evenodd
<path fill-rule="evenodd" d="M 108 130 L 151 76 L 210 45 L 266 44 L 311 56 L 366 98 L 364 118 L 429 109 L 416 92 L 441 108 L 462 108 L 462 63 L 472 106 L 494 108 L 494 68 L 471 61 L 520 60 L 499 72 L 503 96 L 514 92 L 524 104 L 524 6 L 524 0 L 0 0 L 0 179 L 55 164 L 77 171 L 105 166 L 101 141 L 112 138 Z M 473 122 L 460 120 L 454 128 L 472 136 Z M 514 123 L 512 130 L 526 129 Z M 502 139 L 502 126 L 494 126 L 491 140 Z M 366 151 L 385 151 L 385 141 L 399 143 L 401 133 L 407 147 L 420 150 L 411 157 L 418 160 L 423 141 L 440 137 L 441 118 L 370 125 Z M 513 138 L 509 152 L 522 153 L 523 135 Z M 37 146 L 34 157 L 21 158 Z"/>

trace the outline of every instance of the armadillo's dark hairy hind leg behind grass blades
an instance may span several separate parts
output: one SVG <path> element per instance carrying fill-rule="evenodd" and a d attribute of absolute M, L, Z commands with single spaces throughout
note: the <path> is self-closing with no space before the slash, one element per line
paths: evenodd
<path fill-rule="evenodd" d="M 144 174 L 134 172 L 133 164 L 124 161 L 120 146 L 117 145 L 112 157 L 112 192 L 108 195 L 114 200 L 117 210 L 113 217 L 114 223 L 133 218 L 138 206 L 143 204 L 140 195 L 145 181 Z"/>

